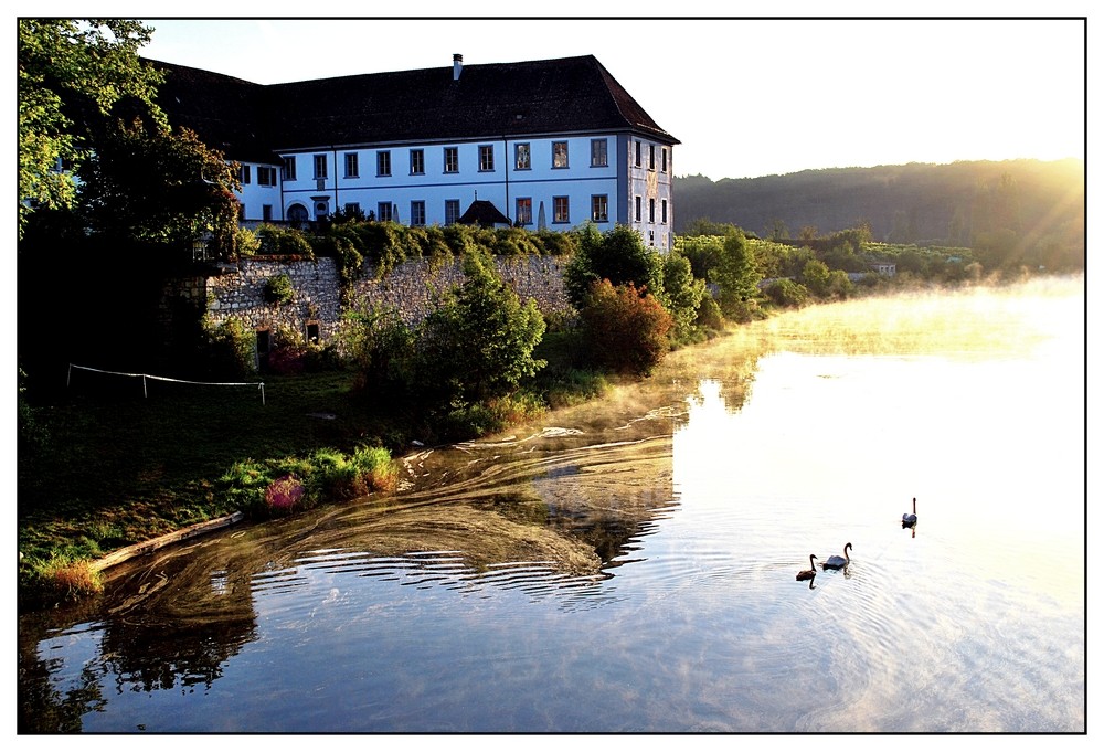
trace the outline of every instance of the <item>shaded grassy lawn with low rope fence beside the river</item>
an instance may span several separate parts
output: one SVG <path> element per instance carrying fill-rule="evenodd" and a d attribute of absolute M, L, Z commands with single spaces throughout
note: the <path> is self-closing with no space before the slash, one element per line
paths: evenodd
<path fill-rule="evenodd" d="M 20 454 L 25 557 L 98 557 L 233 511 L 211 481 L 240 459 L 383 443 L 349 372 L 268 377 L 264 402 L 257 386 L 73 381 L 40 414 L 44 446 Z"/>

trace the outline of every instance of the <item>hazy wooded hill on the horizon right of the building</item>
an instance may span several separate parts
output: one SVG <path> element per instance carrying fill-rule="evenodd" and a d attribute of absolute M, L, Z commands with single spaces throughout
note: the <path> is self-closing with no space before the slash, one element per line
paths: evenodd
<path fill-rule="evenodd" d="M 716 182 L 689 176 L 675 179 L 675 191 L 677 233 L 698 220 L 775 239 L 867 224 L 873 240 L 888 243 L 1016 243 L 1084 255 L 1080 159 L 850 167 Z"/>

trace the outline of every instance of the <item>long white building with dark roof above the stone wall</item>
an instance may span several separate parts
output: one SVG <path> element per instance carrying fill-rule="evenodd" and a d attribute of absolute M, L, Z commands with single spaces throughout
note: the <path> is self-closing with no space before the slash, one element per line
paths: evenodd
<path fill-rule="evenodd" d="M 241 165 L 246 223 L 446 225 L 489 202 L 530 230 L 673 244 L 678 140 L 591 55 L 275 85 L 155 64 L 170 121 Z"/>

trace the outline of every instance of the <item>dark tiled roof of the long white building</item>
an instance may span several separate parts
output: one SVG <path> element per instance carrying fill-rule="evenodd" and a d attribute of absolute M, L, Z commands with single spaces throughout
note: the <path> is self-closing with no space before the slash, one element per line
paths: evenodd
<path fill-rule="evenodd" d="M 354 147 L 660 128 L 593 55 L 259 85 L 178 65 L 159 103 L 230 158 L 247 151 Z M 210 134 L 210 135 L 209 135 Z M 225 146 L 220 146 L 224 144 Z"/>

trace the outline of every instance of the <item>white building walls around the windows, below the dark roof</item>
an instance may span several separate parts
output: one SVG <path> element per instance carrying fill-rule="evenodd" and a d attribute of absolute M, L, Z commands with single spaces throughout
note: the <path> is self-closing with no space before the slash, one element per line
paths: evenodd
<path fill-rule="evenodd" d="M 605 141 L 605 163 L 592 163 L 592 142 Z M 566 166 L 554 162 L 553 145 L 566 144 Z M 637 163 L 637 145 L 640 162 Z M 519 145 L 529 147 L 529 166 L 516 163 Z M 457 170 L 445 170 L 446 150 L 455 152 Z M 412 152 L 421 151 L 421 172 L 412 172 Z M 490 169 L 481 163 L 489 152 Z M 380 155 L 386 155 L 381 172 Z M 569 230 L 593 220 L 595 197 L 605 197 L 606 216 L 596 222 L 606 231 L 615 224 L 637 230 L 646 245 L 668 250 L 673 245 L 672 148 L 658 141 L 625 134 L 587 134 L 534 138 L 481 139 L 473 141 L 402 144 L 362 148 L 337 148 L 286 152 L 295 160 L 295 179 L 288 179 L 280 166 L 243 163 L 243 186 L 238 199 L 246 221 L 291 220 L 296 204 L 306 210 L 308 220 L 317 220 L 336 209 L 357 204 L 365 215 L 385 216 L 389 204 L 392 218 L 412 223 L 412 203 L 423 202 L 427 225 L 447 224 L 449 201 L 463 214 L 476 199 L 492 202 L 510 219 L 518 220 L 518 200 L 529 199 L 531 230 L 544 226 Z M 316 157 L 326 173 L 317 178 Z M 666 169 L 664 159 L 666 157 Z M 354 165 L 349 165 L 349 161 Z M 354 171 L 347 167 L 355 167 Z M 265 173 L 262 177 L 259 170 Z M 248 181 L 244 178 L 247 171 Z M 273 179 L 273 173 L 275 177 Z M 275 184 L 263 184 L 265 181 Z M 640 199 L 637 219 L 636 200 Z M 558 221 L 560 205 L 566 200 L 565 221 Z M 666 218 L 664 216 L 666 202 Z M 270 214 L 266 215 L 266 206 Z M 654 213 L 651 208 L 655 206 Z"/>

